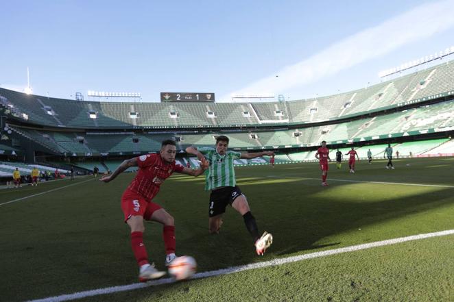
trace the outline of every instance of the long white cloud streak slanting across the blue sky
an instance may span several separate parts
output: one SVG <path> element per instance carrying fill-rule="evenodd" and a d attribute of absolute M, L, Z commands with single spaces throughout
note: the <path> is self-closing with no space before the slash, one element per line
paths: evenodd
<path fill-rule="evenodd" d="M 385 53 L 390 53 L 411 42 L 423 40 L 454 26 L 454 1 L 438 1 L 420 5 L 413 10 L 364 29 L 336 42 L 320 53 L 286 66 L 274 75 L 232 92 L 259 94 L 283 92 L 286 89 L 313 83 Z M 276 75 L 279 77 L 276 78 Z M 230 95 L 221 98 L 230 101 Z"/>

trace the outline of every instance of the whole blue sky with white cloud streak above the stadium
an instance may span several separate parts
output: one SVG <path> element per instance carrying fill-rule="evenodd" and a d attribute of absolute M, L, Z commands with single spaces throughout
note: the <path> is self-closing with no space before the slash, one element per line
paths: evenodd
<path fill-rule="evenodd" d="M 454 0 L 19 0 L 1 10 L 0 86 L 23 89 L 29 66 L 34 94 L 68 99 L 91 99 L 88 90 L 304 99 L 377 83 L 383 69 L 454 45 Z"/>

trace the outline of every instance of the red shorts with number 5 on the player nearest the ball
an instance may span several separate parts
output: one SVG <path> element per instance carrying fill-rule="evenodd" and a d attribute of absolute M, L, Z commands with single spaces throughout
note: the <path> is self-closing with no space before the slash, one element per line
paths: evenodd
<path fill-rule="evenodd" d="M 146 201 L 141 194 L 126 190 L 121 197 L 121 210 L 125 214 L 125 222 L 131 216 L 143 216 L 146 221 L 152 218 L 152 214 L 162 207 L 152 201 Z"/>

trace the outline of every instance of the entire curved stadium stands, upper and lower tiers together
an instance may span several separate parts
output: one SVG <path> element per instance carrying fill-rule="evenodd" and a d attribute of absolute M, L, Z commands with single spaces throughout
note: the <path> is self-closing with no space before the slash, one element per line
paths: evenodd
<path fill-rule="evenodd" d="M 337 95 L 271 103 L 73 101 L 0 88 L 0 113 L 12 130 L 12 140 L 2 134 L 6 142 L 0 144 L 0 155 L 25 154 L 27 146 L 34 145 L 43 158 L 73 157 L 77 166 L 93 170 L 96 164 L 104 173 L 121 163 L 117 158 L 158 151 L 165 139 L 176 140 L 179 153 L 184 153 L 189 145 L 214 147 L 219 135 L 228 136 L 229 147 L 235 150 L 276 150 L 276 164 L 315 160 L 315 151 L 308 150 L 322 140 L 328 147 L 342 146 L 344 154 L 350 149 L 346 145 L 366 144 L 355 147 L 360 158 L 366 158 L 369 148 L 374 158 L 383 158 L 383 142 L 390 138 L 394 151 L 403 157 L 410 152 L 451 154 L 447 137 L 454 129 L 453 64 L 444 62 Z M 431 134 L 430 139 L 402 142 L 426 134 Z M 335 148 L 330 149 L 334 160 Z M 189 160 L 191 166 L 198 166 L 195 158 L 178 156 L 182 164 Z M 81 158 L 86 160 L 78 162 Z M 267 162 L 266 157 L 236 161 Z M 30 166 L 21 168 L 27 171 Z M 10 167 L 0 166 L 0 176 L 11 172 Z"/>

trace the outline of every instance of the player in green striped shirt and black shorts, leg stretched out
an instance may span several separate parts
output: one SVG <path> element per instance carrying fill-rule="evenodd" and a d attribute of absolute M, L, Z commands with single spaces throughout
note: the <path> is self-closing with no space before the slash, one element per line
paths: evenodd
<path fill-rule="evenodd" d="M 239 159 L 250 160 L 263 155 L 272 156 L 274 152 L 264 151 L 256 153 L 240 153 L 228 151 L 228 137 L 219 136 L 215 148 L 187 147 L 186 152 L 196 155 L 199 160 L 208 160 L 210 166 L 205 171 L 205 190 L 211 190 L 208 209 L 209 231 L 218 234 L 222 225 L 222 214 L 226 212 L 227 205 L 233 207 L 241 216 L 252 238 L 257 255 L 263 255 L 273 242 L 272 234 L 266 231 L 259 236 L 259 228 L 252 213 L 246 196 L 236 184 L 233 161 Z"/>

